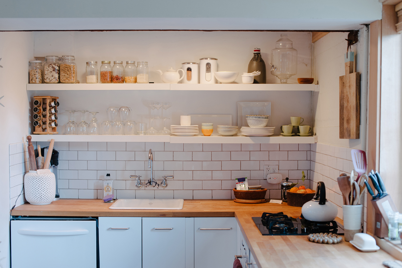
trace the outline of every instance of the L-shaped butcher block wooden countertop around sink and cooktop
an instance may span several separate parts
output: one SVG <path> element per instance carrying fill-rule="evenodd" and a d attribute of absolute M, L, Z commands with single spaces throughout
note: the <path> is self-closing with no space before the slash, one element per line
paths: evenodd
<path fill-rule="evenodd" d="M 384 267 L 394 258 L 383 250 L 361 252 L 351 243 L 312 243 L 304 235 L 261 235 L 251 217 L 263 212 L 281 212 L 298 217 L 301 208 L 286 203 L 239 204 L 233 200 L 185 200 L 180 210 L 109 209 L 101 199 L 61 199 L 50 205 L 24 204 L 11 211 L 13 216 L 86 217 L 236 217 L 259 268 L 371 268 Z M 342 220 L 336 219 L 343 224 Z M 248 268 L 248 267 L 244 267 Z"/>

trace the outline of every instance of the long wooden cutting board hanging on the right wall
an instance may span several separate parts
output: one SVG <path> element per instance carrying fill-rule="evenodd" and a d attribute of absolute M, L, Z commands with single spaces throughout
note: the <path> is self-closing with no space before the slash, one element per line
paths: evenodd
<path fill-rule="evenodd" d="M 345 75 L 339 76 L 339 139 L 360 138 L 360 73 L 353 72 L 354 54 L 345 54 Z"/>

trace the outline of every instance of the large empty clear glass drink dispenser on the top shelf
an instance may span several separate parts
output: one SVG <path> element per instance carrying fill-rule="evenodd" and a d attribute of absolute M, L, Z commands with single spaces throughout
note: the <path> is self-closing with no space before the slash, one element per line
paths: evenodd
<path fill-rule="evenodd" d="M 293 42 L 287 38 L 287 34 L 281 34 L 276 41 L 275 49 L 271 51 L 271 74 L 281 80 L 281 84 L 287 84 L 287 80 L 297 74 L 297 50 L 293 48 Z"/>

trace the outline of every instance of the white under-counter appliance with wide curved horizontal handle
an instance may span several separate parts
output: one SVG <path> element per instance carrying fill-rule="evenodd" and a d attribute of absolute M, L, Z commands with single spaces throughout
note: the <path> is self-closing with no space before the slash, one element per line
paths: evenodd
<path fill-rule="evenodd" d="M 96 219 L 11 220 L 12 268 L 96 268 Z"/>

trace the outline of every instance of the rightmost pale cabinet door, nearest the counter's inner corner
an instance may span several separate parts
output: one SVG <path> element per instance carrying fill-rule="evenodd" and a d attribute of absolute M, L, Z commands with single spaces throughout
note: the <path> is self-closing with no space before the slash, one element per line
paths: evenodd
<path fill-rule="evenodd" d="M 194 218 L 194 268 L 232 267 L 236 253 L 234 217 Z"/>

